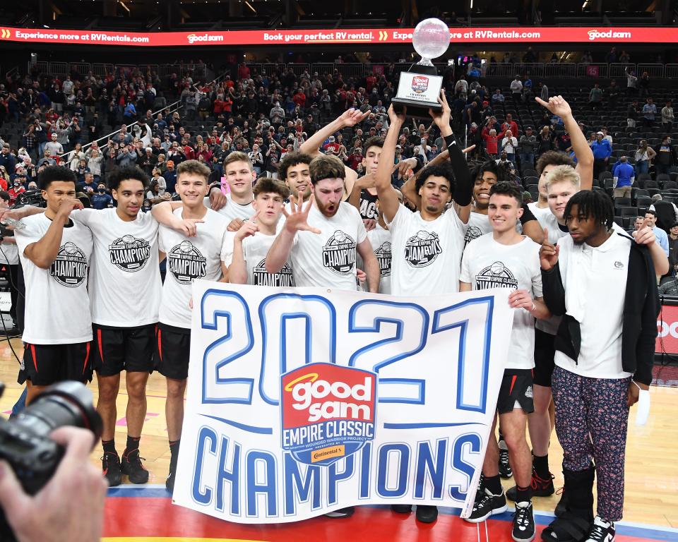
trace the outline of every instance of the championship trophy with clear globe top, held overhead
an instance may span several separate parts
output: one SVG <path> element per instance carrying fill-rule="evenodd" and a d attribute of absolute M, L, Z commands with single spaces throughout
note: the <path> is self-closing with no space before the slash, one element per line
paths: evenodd
<path fill-rule="evenodd" d="M 396 97 L 391 100 L 396 112 L 408 108 L 408 116 L 429 116 L 429 109 L 440 111 L 438 103 L 443 78 L 432 59 L 442 56 L 450 45 L 450 29 L 440 19 L 425 19 L 412 32 L 412 45 L 422 59 L 408 71 L 400 72 Z"/>

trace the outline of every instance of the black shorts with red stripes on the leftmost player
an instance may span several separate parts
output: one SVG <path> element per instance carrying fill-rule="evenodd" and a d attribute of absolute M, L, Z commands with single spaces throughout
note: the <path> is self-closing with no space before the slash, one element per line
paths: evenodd
<path fill-rule="evenodd" d="M 92 381 L 92 342 L 73 344 L 26 344 L 19 369 L 19 384 L 30 380 L 48 386 L 62 380 Z"/>

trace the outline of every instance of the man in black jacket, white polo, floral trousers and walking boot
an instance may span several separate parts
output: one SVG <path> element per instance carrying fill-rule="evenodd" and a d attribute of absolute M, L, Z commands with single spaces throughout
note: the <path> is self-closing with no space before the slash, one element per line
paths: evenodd
<path fill-rule="evenodd" d="M 635 242 L 613 231 L 612 200 L 597 191 L 572 195 L 564 219 L 569 236 L 545 241 L 540 263 L 545 301 L 563 317 L 552 390 L 568 498 L 542 538 L 609 542 L 624 506 L 629 407 L 652 381 L 659 299 L 648 247 L 656 243 L 651 230 Z"/>

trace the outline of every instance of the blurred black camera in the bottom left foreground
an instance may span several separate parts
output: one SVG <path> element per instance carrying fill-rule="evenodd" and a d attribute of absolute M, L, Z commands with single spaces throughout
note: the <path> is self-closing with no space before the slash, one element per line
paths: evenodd
<path fill-rule="evenodd" d="M 2 392 L 0 383 L 0 396 Z M 49 482 L 64 457 L 64 448 L 49 438 L 54 429 L 63 426 L 89 429 L 96 440 L 101 438 L 102 420 L 94 408 L 92 392 L 75 380 L 47 387 L 16 418 L 0 418 L 0 459 L 11 465 L 29 495 Z M 0 540 L 16 540 L 2 510 Z"/>

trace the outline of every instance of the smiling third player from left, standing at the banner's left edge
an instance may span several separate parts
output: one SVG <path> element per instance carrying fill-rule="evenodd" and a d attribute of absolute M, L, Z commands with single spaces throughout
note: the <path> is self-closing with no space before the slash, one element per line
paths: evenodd
<path fill-rule="evenodd" d="M 170 492 L 174 490 L 177 473 L 184 391 L 189 375 L 191 284 L 195 279 L 219 280 L 222 277 L 221 248 L 228 219 L 205 206 L 209 175 L 210 169 L 196 160 L 182 162 L 177 167 L 177 193 L 183 206 L 171 211 L 169 217 L 167 206 L 155 205 L 152 210 L 161 224 L 158 235 L 161 258 L 167 257 L 167 278 L 162 287 L 155 337 L 155 361 L 158 372 L 167 379 L 165 416 L 171 459 L 165 486 Z M 192 227 L 186 227 L 186 220 L 193 224 Z"/>

